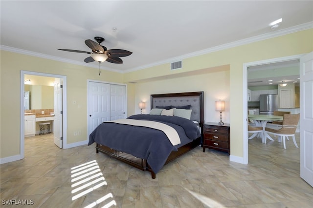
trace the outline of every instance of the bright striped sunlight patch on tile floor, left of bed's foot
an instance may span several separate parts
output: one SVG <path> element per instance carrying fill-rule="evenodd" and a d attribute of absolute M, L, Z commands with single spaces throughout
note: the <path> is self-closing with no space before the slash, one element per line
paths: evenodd
<path fill-rule="evenodd" d="M 89 194 L 95 189 L 108 185 L 96 160 L 71 168 L 71 183 L 71 193 L 75 194 L 72 196 L 72 201 Z M 105 202 L 106 200 L 110 201 Z M 102 208 L 116 206 L 112 193 L 108 193 L 97 199 L 86 206 L 86 208 L 93 208 L 95 206 L 99 206 L 100 204 L 103 204 Z"/>

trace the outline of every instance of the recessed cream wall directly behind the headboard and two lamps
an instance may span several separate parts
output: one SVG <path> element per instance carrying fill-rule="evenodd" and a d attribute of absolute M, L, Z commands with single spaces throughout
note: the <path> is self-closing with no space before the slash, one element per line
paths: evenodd
<path fill-rule="evenodd" d="M 150 113 L 150 95 L 204 91 L 204 120 L 220 120 L 220 112 L 215 111 L 215 101 L 225 101 L 223 121 L 229 123 L 229 66 L 201 70 L 200 73 L 183 73 L 185 76 L 168 77 L 161 80 L 146 81 L 135 85 L 135 113 L 139 114 L 138 103 L 146 102 L 143 113 Z"/>

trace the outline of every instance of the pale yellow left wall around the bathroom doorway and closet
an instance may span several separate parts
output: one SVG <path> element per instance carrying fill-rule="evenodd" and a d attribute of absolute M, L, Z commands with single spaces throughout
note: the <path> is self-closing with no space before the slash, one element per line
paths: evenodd
<path fill-rule="evenodd" d="M 1 51 L 0 158 L 20 154 L 21 70 L 67 76 L 67 144 L 87 139 L 87 79 L 122 83 L 123 74 Z M 73 100 L 76 104 L 73 104 Z M 74 131 L 81 131 L 74 136 Z"/>

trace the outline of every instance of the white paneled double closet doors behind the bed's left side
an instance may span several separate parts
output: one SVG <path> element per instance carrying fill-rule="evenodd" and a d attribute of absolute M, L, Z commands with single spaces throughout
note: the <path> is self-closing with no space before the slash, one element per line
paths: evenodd
<path fill-rule="evenodd" d="M 88 83 L 88 135 L 104 121 L 126 116 L 126 86 L 102 82 Z"/>

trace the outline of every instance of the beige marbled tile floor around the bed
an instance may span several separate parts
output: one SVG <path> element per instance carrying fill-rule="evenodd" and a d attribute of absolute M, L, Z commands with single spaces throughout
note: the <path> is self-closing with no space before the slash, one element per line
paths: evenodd
<path fill-rule="evenodd" d="M 248 165 L 198 147 L 151 179 L 149 172 L 96 154 L 94 145 L 61 150 L 53 134 L 29 137 L 25 158 L 0 166 L 0 207 L 312 207 L 313 188 L 299 177 L 299 149 L 292 141 L 286 145 L 249 140 Z"/>

